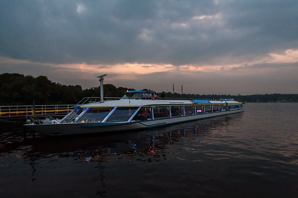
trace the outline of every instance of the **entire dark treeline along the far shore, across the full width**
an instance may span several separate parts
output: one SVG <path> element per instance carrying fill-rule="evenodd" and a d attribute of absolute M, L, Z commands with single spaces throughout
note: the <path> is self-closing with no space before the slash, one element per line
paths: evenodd
<path fill-rule="evenodd" d="M 116 88 L 112 84 L 104 84 L 104 96 L 122 97 L 126 91 L 132 88 Z M 147 91 L 147 89 L 143 89 Z M 161 93 L 158 93 L 159 96 Z M 46 76 L 33 77 L 24 74 L 0 74 L 0 105 L 30 105 L 35 100 L 35 105 L 63 105 L 77 104 L 84 97 L 100 97 L 100 88 L 92 87 L 82 89 L 81 85 L 61 85 L 50 81 Z M 166 93 L 168 98 L 193 98 L 193 99 L 225 99 L 234 98 L 241 102 L 298 102 L 298 94 L 257 94 L 246 96 L 233 95 L 199 95 Z"/>

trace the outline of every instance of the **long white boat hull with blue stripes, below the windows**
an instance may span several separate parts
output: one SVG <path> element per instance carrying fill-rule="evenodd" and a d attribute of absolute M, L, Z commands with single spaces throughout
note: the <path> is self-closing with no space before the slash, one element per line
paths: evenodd
<path fill-rule="evenodd" d="M 93 122 L 93 123 L 63 123 L 63 124 L 25 124 L 24 126 L 31 128 L 35 132 L 44 136 L 58 135 L 81 135 L 103 132 L 117 132 L 127 130 L 142 130 L 152 127 L 161 127 L 170 124 L 177 124 L 197 119 L 210 118 L 215 116 L 223 116 L 232 113 L 244 111 L 243 108 L 237 110 L 220 111 L 213 113 L 203 113 L 188 116 L 177 116 L 160 119 L 152 119 L 136 122 Z"/>

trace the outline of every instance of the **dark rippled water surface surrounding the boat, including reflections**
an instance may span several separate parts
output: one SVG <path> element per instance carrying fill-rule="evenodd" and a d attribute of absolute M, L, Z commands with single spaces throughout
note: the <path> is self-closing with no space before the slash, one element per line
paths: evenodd
<path fill-rule="evenodd" d="M 0 123 L 0 197 L 298 197 L 298 103 L 146 131 L 44 138 Z M 30 136 L 31 135 L 31 136 Z"/>

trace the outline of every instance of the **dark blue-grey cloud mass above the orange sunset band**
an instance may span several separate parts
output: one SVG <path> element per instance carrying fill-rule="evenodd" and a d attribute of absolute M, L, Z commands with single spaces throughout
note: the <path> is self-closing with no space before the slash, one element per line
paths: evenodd
<path fill-rule="evenodd" d="M 0 56 L 175 66 L 231 56 L 226 63 L 237 63 L 297 48 L 297 7 L 297 1 L 1 1 Z"/>

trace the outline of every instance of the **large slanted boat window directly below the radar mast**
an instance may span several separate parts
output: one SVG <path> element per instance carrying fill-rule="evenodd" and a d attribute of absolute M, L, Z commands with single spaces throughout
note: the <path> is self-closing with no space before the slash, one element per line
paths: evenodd
<path fill-rule="evenodd" d="M 91 108 L 77 122 L 101 122 L 113 109 L 109 108 Z"/>

